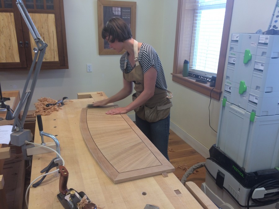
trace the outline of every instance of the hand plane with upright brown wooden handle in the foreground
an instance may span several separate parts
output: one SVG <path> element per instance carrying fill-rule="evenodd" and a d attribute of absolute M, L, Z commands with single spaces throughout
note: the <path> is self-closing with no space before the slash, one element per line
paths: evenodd
<path fill-rule="evenodd" d="M 59 166 L 60 179 L 57 198 L 65 209 L 97 209 L 97 206 L 91 202 L 84 192 L 78 192 L 75 189 L 68 189 L 67 182 L 69 173 L 63 166 Z"/>

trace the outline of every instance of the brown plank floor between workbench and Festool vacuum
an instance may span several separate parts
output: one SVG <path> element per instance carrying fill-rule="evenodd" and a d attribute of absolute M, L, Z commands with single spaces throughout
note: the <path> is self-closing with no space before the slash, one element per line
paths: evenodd
<path fill-rule="evenodd" d="M 170 163 L 175 167 L 174 174 L 179 180 L 181 180 L 185 172 L 193 165 L 206 161 L 202 155 L 197 153 L 197 151 L 184 142 L 172 130 L 170 130 L 168 150 Z M 201 184 L 205 182 L 205 175 L 206 169 L 205 167 L 202 167 L 189 175 L 186 181 L 193 181 L 199 188 L 201 188 Z"/>

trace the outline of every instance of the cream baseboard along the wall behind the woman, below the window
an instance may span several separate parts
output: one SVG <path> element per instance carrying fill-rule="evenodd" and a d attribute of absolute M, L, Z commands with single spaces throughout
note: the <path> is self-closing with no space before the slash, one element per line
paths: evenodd
<path fill-rule="evenodd" d="M 132 121 L 135 121 L 135 114 L 128 114 L 128 116 Z M 185 132 L 182 128 L 180 128 L 171 120 L 170 129 L 180 138 L 182 138 L 184 142 L 193 147 L 193 149 L 196 150 L 204 158 L 209 158 L 209 149 L 207 149 L 204 145 L 198 142 L 195 138 L 193 138 L 191 135 L 189 135 L 187 132 Z"/>

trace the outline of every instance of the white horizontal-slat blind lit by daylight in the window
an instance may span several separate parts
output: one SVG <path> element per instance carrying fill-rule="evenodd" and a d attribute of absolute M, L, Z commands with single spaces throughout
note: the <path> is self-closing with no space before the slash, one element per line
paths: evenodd
<path fill-rule="evenodd" d="M 226 0 L 196 0 L 190 53 L 190 70 L 216 75 Z"/>

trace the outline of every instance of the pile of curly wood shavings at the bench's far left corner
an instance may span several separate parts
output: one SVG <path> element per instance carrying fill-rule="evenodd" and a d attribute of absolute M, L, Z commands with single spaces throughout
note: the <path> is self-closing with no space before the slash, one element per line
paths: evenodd
<path fill-rule="evenodd" d="M 39 102 L 35 103 L 36 111 L 33 112 L 33 116 L 36 115 L 50 115 L 53 111 L 59 111 L 61 108 L 61 104 L 57 105 L 50 105 L 49 107 L 46 107 L 46 104 L 51 103 L 55 104 L 57 100 L 51 99 L 51 98 L 46 98 L 42 97 L 38 99 Z M 64 104 L 65 100 L 64 100 Z"/>

